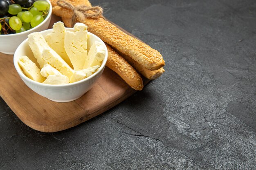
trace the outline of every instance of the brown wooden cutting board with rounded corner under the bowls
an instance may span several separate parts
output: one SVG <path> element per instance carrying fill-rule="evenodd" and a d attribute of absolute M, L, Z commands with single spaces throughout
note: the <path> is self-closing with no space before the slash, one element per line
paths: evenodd
<path fill-rule="evenodd" d="M 49 28 L 60 20 L 53 15 Z M 3 53 L 0 53 L 0 77 L 2 99 L 24 124 L 41 132 L 57 132 L 81 124 L 136 92 L 117 73 L 105 67 L 99 81 L 81 98 L 66 103 L 53 102 L 32 91 L 16 72 L 13 55 Z"/>

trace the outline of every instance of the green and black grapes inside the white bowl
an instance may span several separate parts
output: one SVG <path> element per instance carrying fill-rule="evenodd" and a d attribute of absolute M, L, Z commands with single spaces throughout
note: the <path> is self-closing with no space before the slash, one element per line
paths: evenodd
<path fill-rule="evenodd" d="M 50 4 L 44 0 L 0 0 L 0 34 L 21 33 L 46 18 Z"/>

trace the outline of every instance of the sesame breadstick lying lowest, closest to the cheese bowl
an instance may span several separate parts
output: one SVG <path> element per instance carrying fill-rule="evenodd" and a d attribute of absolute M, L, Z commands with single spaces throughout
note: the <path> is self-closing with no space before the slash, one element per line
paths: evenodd
<path fill-rule="evenodd" d="M 108 60 L 106 66 L 115 71 L 124 81 L 135 90 L 142 90 L 143 81 L 135 69 L 124 60 L 114 49 L 106 44 L 108 48 Z"/>

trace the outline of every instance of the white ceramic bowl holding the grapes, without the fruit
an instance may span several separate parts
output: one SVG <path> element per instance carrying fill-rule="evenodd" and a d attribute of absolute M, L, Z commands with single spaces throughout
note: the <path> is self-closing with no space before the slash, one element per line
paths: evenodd
<path fill-rule="evenodd" d="M 14 54 L 20 43 L 27 38 L 27 35 L 33 32 L 40 32 L 48 29 L 52 17 L 52 4 L 49 0 L 45 1 L 50 4 L 49 13 L 45 20 L 43 20 L 43 22 L 41 22 L 38 26 L 35 26 L 27 31 L 9 35 L 0 35 L 0 52 L 5 54 Z"/>

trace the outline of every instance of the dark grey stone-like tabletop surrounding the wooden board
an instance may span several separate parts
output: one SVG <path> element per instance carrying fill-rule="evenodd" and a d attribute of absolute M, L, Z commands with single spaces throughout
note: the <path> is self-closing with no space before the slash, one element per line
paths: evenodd
<path fill-rule="evenodd" d="M 256 169 L 256 1 L 92 0 L 166 73 L 56 133 L 0 100 L 0 169 Z M 32 113 L 31 113 L 32 114 Z"/>

